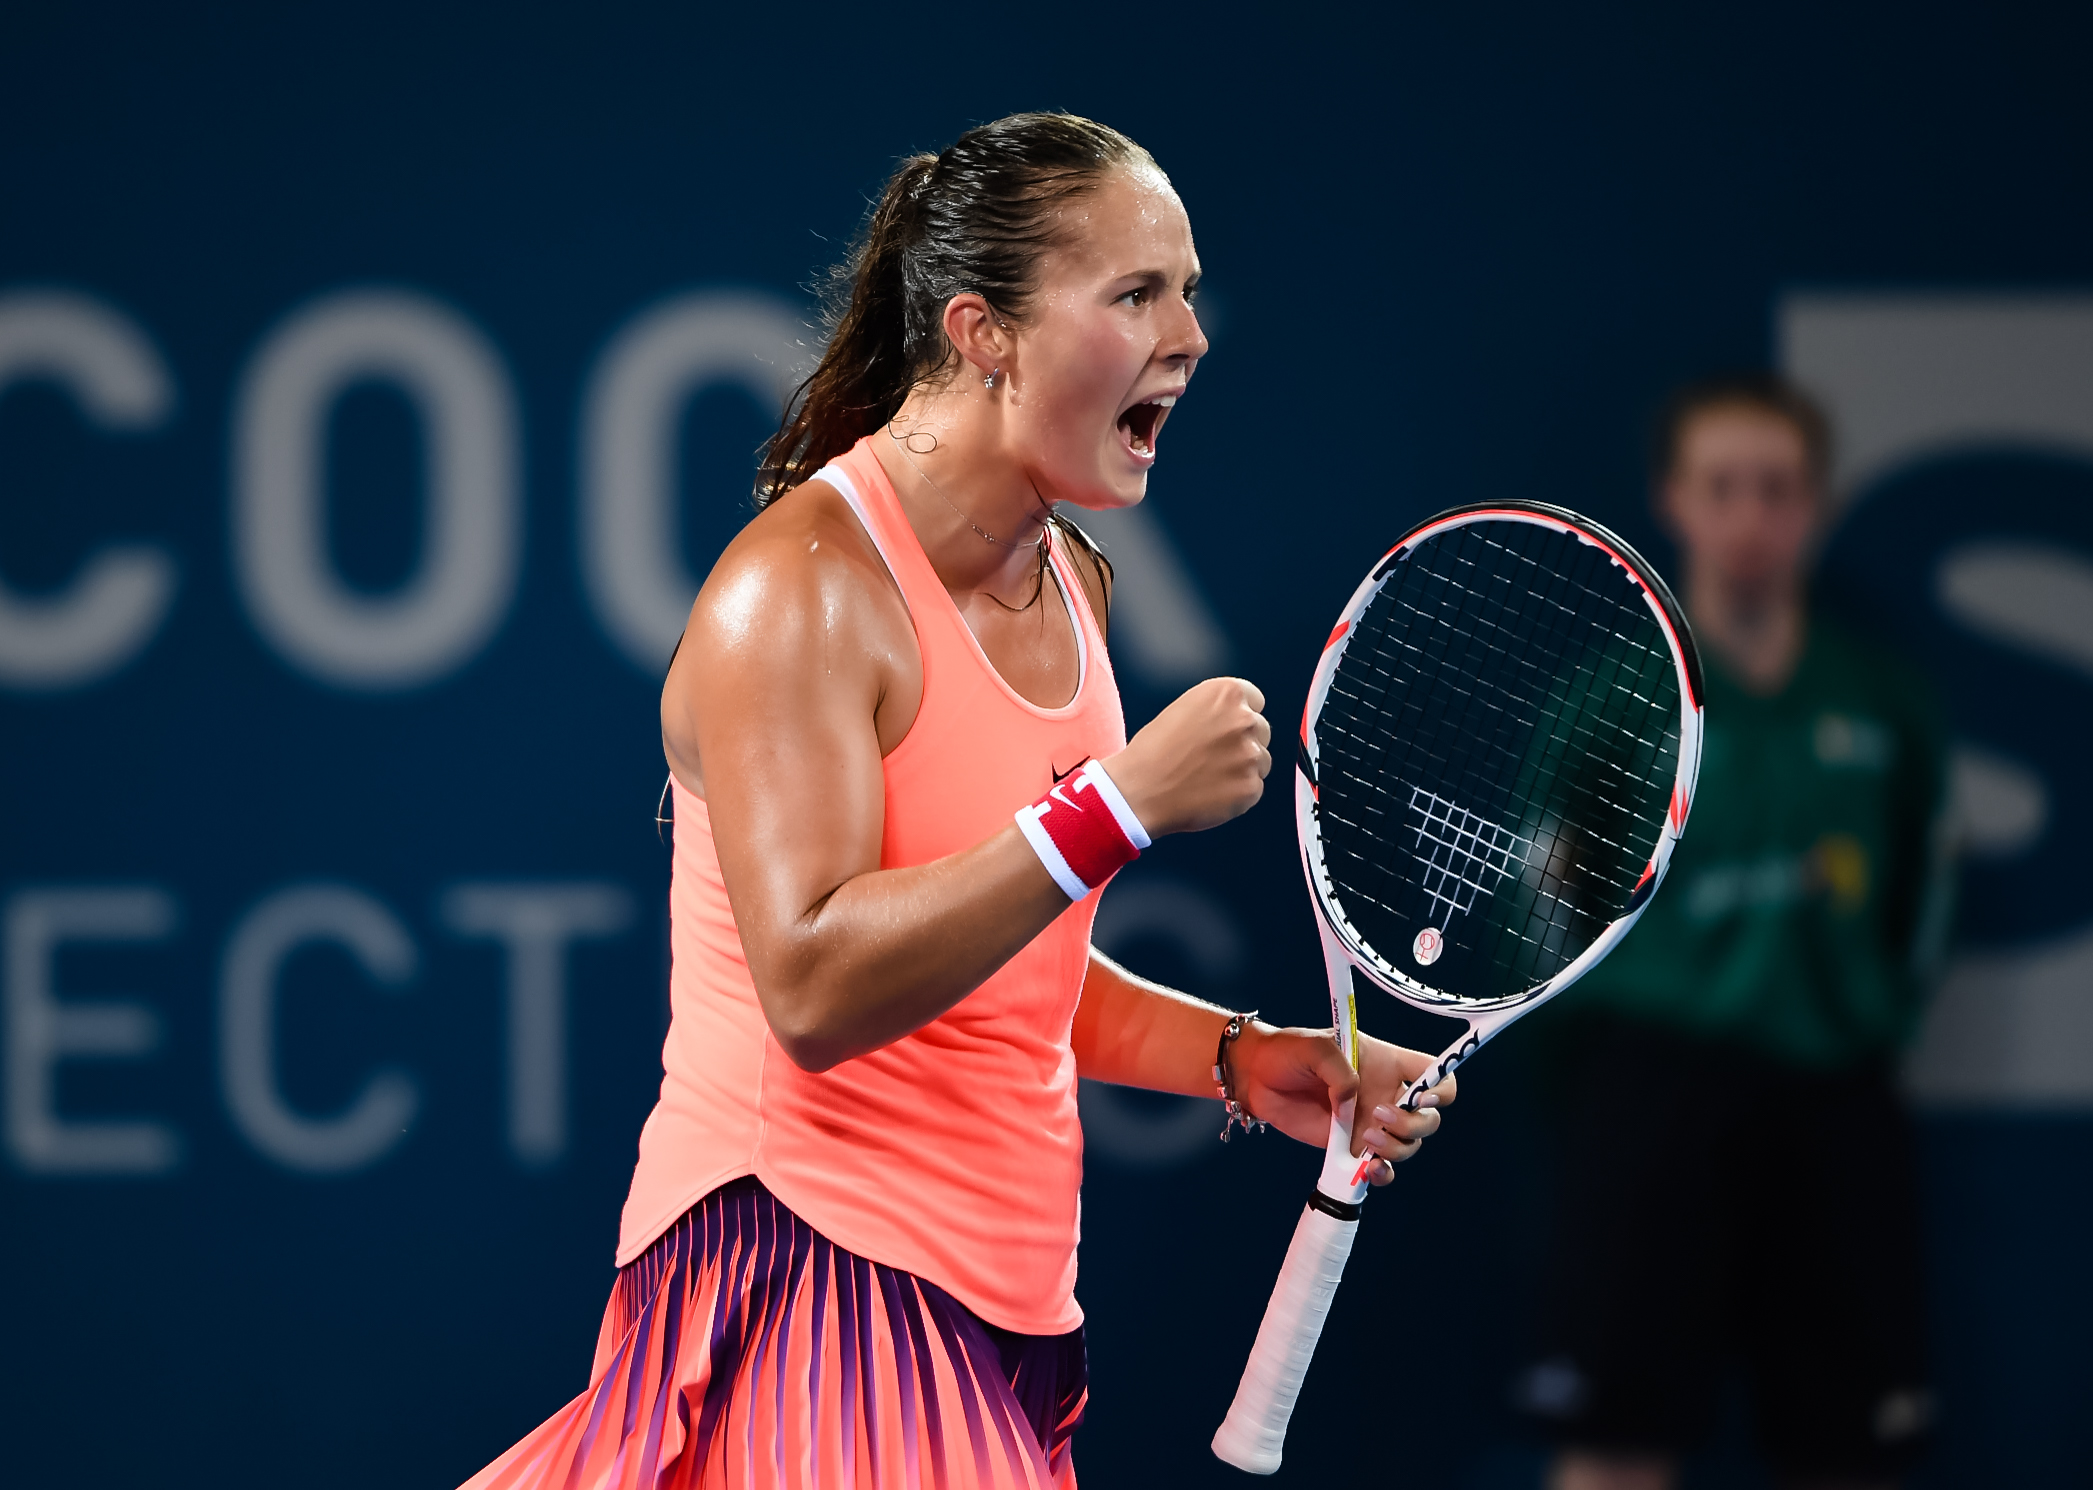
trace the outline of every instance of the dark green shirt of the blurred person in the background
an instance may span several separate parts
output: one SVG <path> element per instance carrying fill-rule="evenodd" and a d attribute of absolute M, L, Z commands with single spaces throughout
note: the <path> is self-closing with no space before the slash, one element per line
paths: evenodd
<path fill-rule="evenodd" d="M 1815 1069 L 1896 1048 L 1946 929 L 1932 693 L 1813 617 L 1773 697 L 1708 659 L 1704 720 L 1670 875 L 1566 1002 Z"/>

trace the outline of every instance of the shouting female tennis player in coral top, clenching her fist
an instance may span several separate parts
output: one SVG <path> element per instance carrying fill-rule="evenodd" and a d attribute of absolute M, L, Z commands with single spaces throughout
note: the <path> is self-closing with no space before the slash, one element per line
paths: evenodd
<path fill-rule="evenodd" d="M 1143 498 L 1197 280 L 1088 119 L 887 184 L 661 693 L 672 1025 L 594 1377 L 475 1490 L 1072 1486 L 1078 1076 L 1319 1149 L 1356 1097 L 1375 1182 L 1438 1126 L 1396 1109 L 1423 1055 L 1354 1076 L 1090 946 L 1093 891 L 1273 764 L 1239 678 L 1126 741 L 1111 567 L 1055 513 Z"/>

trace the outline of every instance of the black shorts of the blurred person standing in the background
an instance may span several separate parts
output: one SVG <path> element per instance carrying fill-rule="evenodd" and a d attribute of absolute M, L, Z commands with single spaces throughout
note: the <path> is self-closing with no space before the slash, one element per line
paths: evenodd
<path fill-rule="evenodd" d="M 1775 1471 L 1898 1475 L 1932 1396 L 1911 1124 L 1890 1069 L 1796 1071 L 1593 1017 L 1568 1051 L 1522 1410 L 1566 1446 L 1685 1454 L 1741 1379 Z"/>

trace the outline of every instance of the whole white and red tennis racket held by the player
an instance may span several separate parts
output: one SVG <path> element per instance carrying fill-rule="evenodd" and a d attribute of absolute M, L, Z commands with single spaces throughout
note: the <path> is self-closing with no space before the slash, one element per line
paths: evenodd
<path fill-rule="evenodd" d="M 1402 1105 L 1589 973 L 1649 904 L 1700 774 L 1702 670 L 1679 601 L 1559 506 L 1457 506 L 1373 567 L 1323 645 L 1293 808 L 1337 1038 L 1352 969 L 1467 1021 Z M 1358 1233 L 1373 1155 L 1331 1118 L 1258 1341 L 1214 1433 L 1279 1469 Z"/>

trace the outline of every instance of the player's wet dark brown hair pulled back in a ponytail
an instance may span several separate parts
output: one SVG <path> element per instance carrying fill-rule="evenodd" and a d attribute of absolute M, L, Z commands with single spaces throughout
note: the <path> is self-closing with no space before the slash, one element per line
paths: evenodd
<path fill-rule="evenodd" d="M 1021 322 L 1063 203 L 1124 165 L 1155 161 L 1118 130 L 1074 113 L 1013 113 L 967 130 L 938 155 L 904 159 L 850 257 L 820 285 L 829 345 L 764 446 L 756 506 L 890 423 L 915 387 L 952 375 L 944 308 L 954 295 L 971 291 L 998 318 Z M 1080 527 L 1059 515 L 1051 523 L 1111 573 Z"/>

